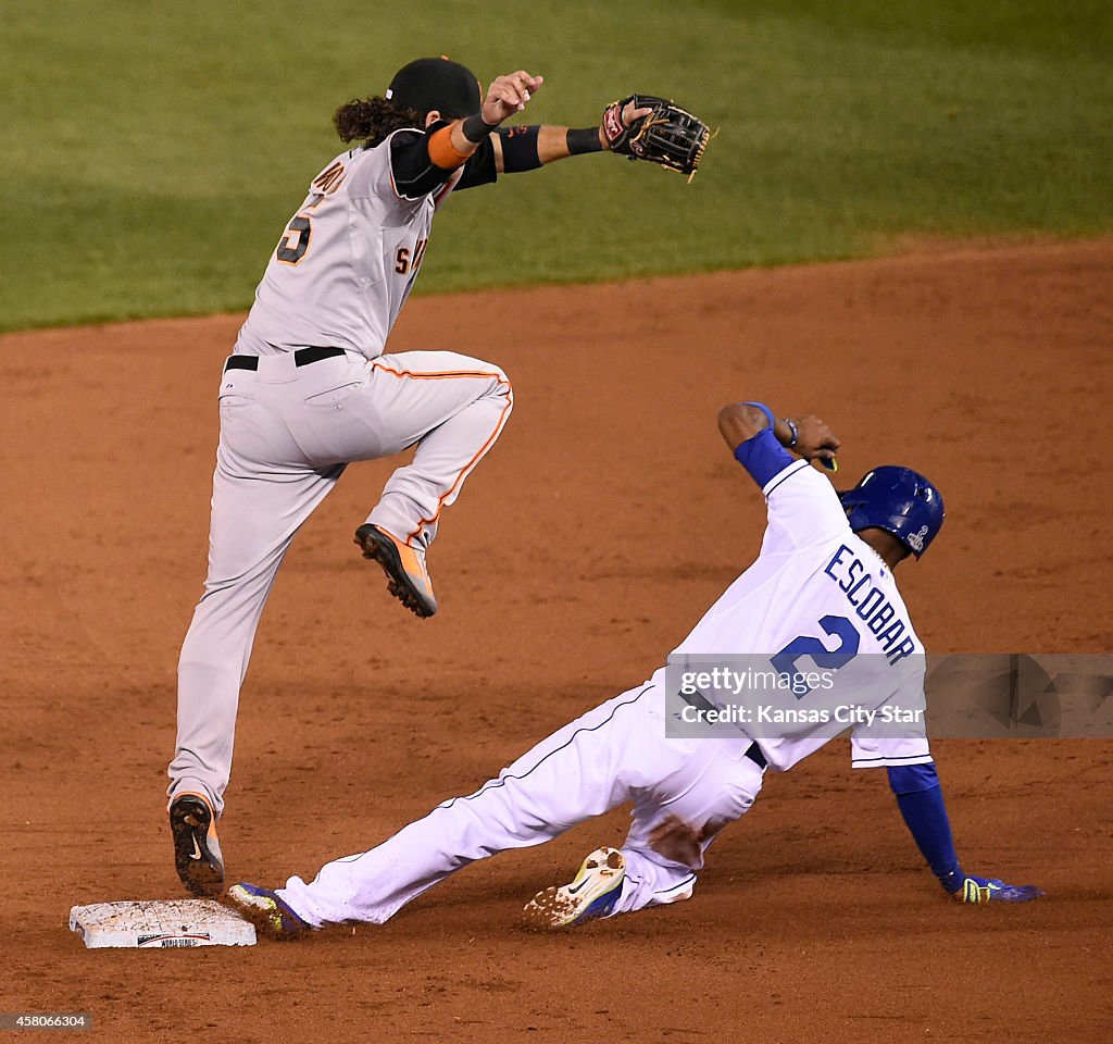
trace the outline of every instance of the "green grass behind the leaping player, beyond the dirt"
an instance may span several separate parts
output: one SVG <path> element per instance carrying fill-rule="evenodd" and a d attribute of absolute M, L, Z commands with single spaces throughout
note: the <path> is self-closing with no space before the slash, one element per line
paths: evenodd
<path fill-rule="evenodd" d="M 1034 0 L 57 0 L 0 12 L 0 328 L 246 307 L 331 115 L 411 57 L 546 77 L 531 121 L 632 89 L 718 138 L 691 186 L 610 156 L 463 193 L 424 293 L 1113 228 L 1113 14 Z"/>

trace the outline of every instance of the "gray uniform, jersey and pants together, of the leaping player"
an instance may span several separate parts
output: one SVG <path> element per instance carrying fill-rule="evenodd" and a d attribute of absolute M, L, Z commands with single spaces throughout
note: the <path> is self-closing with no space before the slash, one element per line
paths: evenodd
<path fill-rule="evenodd" d="M 270 256 L 236 342 L 237 355 L 259 357 L 220 378 L 208 575 L 178 661 L 171 796 L 204 795 L 220 814 L 263 607 L 295 533 L 346 464 L 416 446 L 366 521 L 424 554 L 510 416 L 498 366 L 455 352 L 384 354 L 433 215 L 463 177 L 460 168 L 408 198 L 392 175 L 391 138 L 342 152 Z M 345 352 L 299 363 L 294 349 L 311 346 Z"/>

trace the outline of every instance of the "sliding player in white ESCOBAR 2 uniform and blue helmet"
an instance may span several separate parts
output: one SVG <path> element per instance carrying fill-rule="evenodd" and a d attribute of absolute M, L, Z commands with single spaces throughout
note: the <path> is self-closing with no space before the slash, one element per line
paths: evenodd
<path fill-rule="evenodd" d="M 877 467 L 838 494 L 808 465 L 838 440 L 814 416 L 776 420 L 760 403 L 723 408 L 719 426 L 765 494 L 761 553 L 703 615 L 679 654 L 760 653 L 795 669 L 801 657 L 845 668 L 873 653 L 875 683 L 857 693 L 863 720 L 923 692 L 923 644 L 893 571 L 927 550 L 943 500 L 905 467 Z M 791 446 L 801 459 L 794 459 Z M 312 883 L 235 885 L 228 902 L 264 932 L 290 936 L 341 922 L 383 923 L 454 870 L 546 841 L 623 801 L 633 821 L 621 849 L 601 848 L 568 885 L 539 893 L 526 919 L 563 927 L 691 896 L 708 845 L 743 816 L 767 769 L 787 771 L 828 736 L 798 713 L 770 735 L 667 736 L 666 672 L 608 700 L 467 797 L 435 808 L 376 848 L 327 864 Z M 879 680 L 878 680 L 879 679 Z M 795 690 L 794 690 L 795 691 Z M 801 697 L 807 709 L 818 693 Z M 757 731 L 757 730 L 754 730 Z M 851 730 L 853 765 L 885 766 L 908 829 L 943 888 L 964 903 L 1021 903 L 1043 893 L 967 874 L 958 861 L 926 736 Z"/>

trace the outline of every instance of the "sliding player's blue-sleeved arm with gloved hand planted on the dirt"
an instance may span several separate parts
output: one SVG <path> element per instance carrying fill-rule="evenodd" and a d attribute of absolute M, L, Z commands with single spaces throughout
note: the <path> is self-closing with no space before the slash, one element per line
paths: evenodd
<path fill-rule="evenodd" d="M 959 903 L 1027 903 L 1043 895 L 1035 885 L 1006 885 L 967 874 L 958 863 L 943 788 L 934 762 L 890 767 L 889 786 L 917 847 L 951 896 Z"/>

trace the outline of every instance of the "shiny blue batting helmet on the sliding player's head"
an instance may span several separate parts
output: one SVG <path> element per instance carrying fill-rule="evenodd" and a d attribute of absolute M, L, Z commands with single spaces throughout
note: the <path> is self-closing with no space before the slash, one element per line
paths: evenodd
<path fill-rule="evenodd" d="M 918 471 L 887 464 L 867 472 L 839 493 L 850 529 L 881 529 L 893 533 L 916 558 L 943 526 L 943 496 Z"/>

